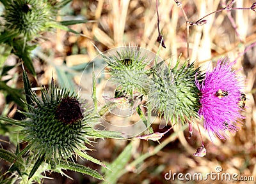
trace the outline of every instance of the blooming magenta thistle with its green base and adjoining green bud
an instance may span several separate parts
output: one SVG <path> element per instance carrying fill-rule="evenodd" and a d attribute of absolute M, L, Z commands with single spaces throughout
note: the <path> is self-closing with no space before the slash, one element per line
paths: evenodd
<path fill-rule="evenodd" d="M 207 73 L 202 73 L 194 63 L 181 63 L 180 60 L 175 67 L 171 67 L 171 63 L 165 66 L 164 60 L 159 63 L 153 60 L 153 66 L 148 67 L 145 62 L 147 55 L 137 50 L 140 49 L 127 47 L 120 52 L 101 54 L 108 64 L 110 80 L 118 84 L 116 100 L 139 92 L 147 101 L 145 107 L 149 115 L 154 110 L 172 126 L 179 122 L 182 125 L 188 123 L 189 138 L 193 132 L 192 123 L 200 117 L 204 118 L 204 127 L 211 139 L 212 135 L 225 139 L 228 137 L 226 131 L 239 129 L 237 125 L 243 118 L 241 108 L 246 96 L 241 92 L 241 78 L 232 71 L 234 62 L 220 59 L 217 66 Z M 141 114 L 140 108 L 137 112 Z M 140 117 L 145 122 L 145 118 Z M 149 128 L 150 122 L 146 122 Z M 150 134 L 136 138 L 159 141 L 165 134 L 149 130 Z M 194 155 L 203 157 L 205 154 L 202 141 L 201 148 Z"/>

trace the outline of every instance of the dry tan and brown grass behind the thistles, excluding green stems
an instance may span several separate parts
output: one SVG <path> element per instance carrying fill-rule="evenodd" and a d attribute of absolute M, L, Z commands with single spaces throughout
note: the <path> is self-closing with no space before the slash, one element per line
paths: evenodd
<path fill-rule="evenodd" d="M 181 1 L 184 11 L 189 20 L 195 21 L 207 13 L 223 7 L 225 1 Z M 235 7 L 250 7 L 253 1 L 239 0 Z M 152 52 L 157 52 L 159 43 L 156 42 L 157 15 L 156 1 L 131 0 L 131 1 L 82 1 L 74 0 L 71 7 L 76 15 L 81 15 L 88 20 L 95 20 L 87 24 L 73 25 L 72 29 L 83 33 L 77 36 L 64 31 L 57 30 L 56 34 L 47 34 L 41 45 L 45 51 L 52 50 L 51 59 L 47 64 L 35 62 L 38 73 L 38 83 L 45 85 L 49 83 L 52 73 L 57 75 L 53 65 L 62 66 L 65 60 L 67 66 L 74 66 L 83 62 L 90 62 L 98 55 L 92 45 L 95 44 L 99 50 L 124 45 L 138 45 Z M 234 18 L 237 29 L 234 29 L 228 17 Z M 220 57 L 229 57 L 230 60 L 237 59 L 235 69 L 241 76 L 246 77 L 244 92 L 248 98 L 247 108 L 243 112 L 246 119 L 243 127 L 234 135 L 230 135 L 227 141 L 216 139 L 214 143 L 209 140 L 205 133 L 202 122 L 198 120 L 203 134 L 207 155 L 205 157 L 193 157 L 196 148 L 200 147 L 200 136 L 194 127 L 193 138 L 188 139 L 188 129 L 179 133 L 156 155 L 152 155 L 138 168 L 126 168 L 130 172 L 124 174 L 119 183 L 184 183 L 184 181 L 164 180 L 164 173 L 172 170 L 172 173 L 210 173 L 216 172 L 215 168 L 221 166 L 223 173 L 237 173 L 240 176 L 254 176 L 256 180 L 256 107 L 255 107 L 255 73 L 256 73 L 256 48 L 252 47 L 244 53 L 244 49 L 256 42 L 256 13 L 252 10 L 221 11 L 207 17 L 207 24 L 203 26 L 192 26 L 189 29 L 190 61 L 195 61 L 196 66 L 207 69 L 210 61 L 216 61 Z M 186 22 L 182 12 L 174 1 L 160 1 L 159 3 L 160 28 L 164 35 L 166 48 L 161 48 L 159 55 L 163 59 L 172 58 L 177 60 L 180 54 L 182 59 L 187 57 L 186 48 Z M 60 17 L 61 19 L 61 17 Z M 237 33 L 236 33 L 237 31 Z M 74 49 L 78 50 L 77 52 Z M 86 53 L 80 52 L 86 50 Z M 213 63 L 214 63 L 213 62 Z M 74 81 L 78 83 L 80 76 Z M 58 78 L 57 78 L 58 80 Z M 90 88 L 90 85 L 84 87 Z M 100 94 L 99 94 L 100 96 Z M 153 127 L 158 129 L 157 123 Z M 163 131 L 163 130 L 162 130 Z M 168 138 L 166 134 L 161 141 Z M 95 144 L 93 156 L 104 162 L 115 160 L 122 152 L 128 141 L 105 139 Z M 134 140 L 134 152 L 132 159 L 136 159 L 139 153 L 154 150 L 157 143 L 152 141 Z M 88 163 L 86 163 L 88 165 Z M 95 169 L 97 166 L 92 166 Z M 74 181 L 67 178 L 56 178 L 45 180 L 45 183 L 86 183 L 90 179 L 84 179 L 81 174 L 71 174 Z M 50 176 L 56 176 L 50 174 Z M 99 183 L 91 180 L 90 182 Z M 111 181 L 109 181 L 111 183 Z M 256 181 L 188 181 L 188 183 L 255 183 Z"/>

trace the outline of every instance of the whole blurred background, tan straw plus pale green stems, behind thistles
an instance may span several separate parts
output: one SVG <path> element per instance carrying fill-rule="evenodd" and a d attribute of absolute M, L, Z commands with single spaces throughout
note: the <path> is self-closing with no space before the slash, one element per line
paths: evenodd
<path fill-rule="evenodd" d="M 220 10 L 230 1 L 180 1 L 189 21 L 195 22 L 212 11 Z M 254 1 L 239 0 L 233 7 L 247 8 L 247 10 L 220 11 L 205 18 L 207 24 L 189 27 L 189 38 L 186 37 L 186 20 L 175 1 L 159 1 L 159 27 L 164 37 L 166 48 L 157 43 L 157 13 L 156 1 L 83 1 L 74 0 L 63 10 L 60 10 L 59 20 L 70 18 L 85 18 L 90 20 L 86 24 L 70 26 L 71 29 L 81 33 L 73 34 L 67 31 L 56 30 L 45 32 L 40 38 L 40 46 L 33 51 L 33 64 L 36 69 L 36 78 L 29 77 L 33 87 L 47 86 L 51 77 L 60 86 L 81 90 L 81 97 L 90 99 L 92 96 L 92 80 L 81 78 L 84 67 L 95 60 L 99 52 L 104 52 L 118 46 L 137 45 L 151 52 L 157 53 L 165 60 L 177 61 L 179 57 L 186 60 L 187 40 L 189 41 L 190 62 L 201 66 L 203 70 L 214 66 L 220 57 L 228 57 L 230 61 L 236 60 L 234 69 L 239 69 L 240 76 L 246 78 L 244 92 L 247 97 L 246 108 L 243 111 L 243 126 L 230 139 L 220 141 L 209 139 L 201 120 L 198 122 L 202 133 L 207 155 L 194 157 L 196 148 L 202 145 L 197 126 L 194 127 L 193 136 L 188 139 L 188 127 L 178 131 L 181 127 L 170 131 L 160 140 L 154 141 L 140 139 L 98 139 L 93 144 L 90 155 L 106 163 L 115 164 L 116 158 L 123 160 L 123 164 L 116 165 L 118 172 L 101 169 L 99 166 L 77 159 L 77 162 L 97 169 L 105 174 L 108 183 L 255 183 L 256 181 L 256 107 L 255 107 L 255 73 L 256 73 L 256 12 L 249 10 Z M 94 46 L 95 45 L 95 46 Z M 8 57 L 6 65 L 17 62 L 15 57 Z M 96 62 L 95 62 L 96 63 Z M 97 66 L 95 66 L 97 67 Z M 92 73 L 88 67 L 85 71 L 88 76 Z M 22 88 L 22 68 L 10 70 L 8 77 L 12 78 L 10 85 Z M 97 83 L 97 97 L 102 99 L 105 84 Z M 89 101 L 85 101 L 86 103 Z M 90 102 L 89 102 L 90 103 Z M 0 111 L 12 118 L 22 118 L 17 104 L 9 103 L 0 93 Z M 106 120 L 115 121 L 115 117 L 106 115 Z M 132 121 L 138 120 L 134 116 Z M 122 123 L 122 122 L 121 122 Z M 195 124 L 196 125 L 196 124 Z M 155 132 L 159 130 L 159 120 L 153 123 Z M 3 148 L 15 149 L 9 144 L 10 138 L 1 136 L 7 141 L 1 142 Z M 17 140 L 16 140 L 17 141 Z M 120 155 L 123 150 L 129 148 Z M 141 155 L 145 155 L 141 157 Z M 119 157 L 118 157 L 119 156 Z M 134 162 L 135 161 L 135 162 Z M 4 164 L 2 163 L 1 166 Z M 122 166 L 121 166 L 122 165 Z M 113 166 L 113 165 L 112 165 Z M 166 180 L 164 174 L 169 173 L 217 173 L 216 167 L 221 166 L 222 173 L 237 173 L 239 176 L 254 176 L 254 181 L 179 181 Z M 56 173 L 46 173 L 52 180 L 44 183 L 102 183 L 83 174 L 66 171 L 73 180 Z"/>

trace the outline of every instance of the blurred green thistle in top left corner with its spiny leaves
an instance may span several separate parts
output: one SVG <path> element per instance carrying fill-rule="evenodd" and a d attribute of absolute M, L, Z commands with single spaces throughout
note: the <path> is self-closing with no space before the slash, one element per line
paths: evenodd
<path fill-rule="evenodd" d="M 70 3 L 65 1 L 47 1 L 47 0 L 12 0 L 1 1 L 4 5 L 2 17 L 4 18 L 0 34 L 0 44 L 3 50 L 2 55 L 10 55 L 11 51 L 17 55 L 28 68 L 29 72 L 36 75 L 31 59 L 31 51 L 38 45 L 36 39 L 43 32 L 52 29 L 63 29 L 65 31 L 79 34 L 67 25 L 86 23 L 88 20 L 67 20 L 63 22 L 56 21 L 56 15 L 60 8 Z M 6 57 L 0 60 L 0 69 Z M 59 71 L 59 73 L 61 73 Z M 68 80 L 70 81 L 70 80 Z"/>

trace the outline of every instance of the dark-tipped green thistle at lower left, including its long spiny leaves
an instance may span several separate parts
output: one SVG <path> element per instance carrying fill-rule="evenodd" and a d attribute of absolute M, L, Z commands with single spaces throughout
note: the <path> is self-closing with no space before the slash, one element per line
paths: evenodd
<path fill-rule="evenodd" d="M 42 89 L 42 99 L 39 98 L 31 91 L 26 72 L 23 74 L 28 111 L 20 111 L 20 113 L 23 113 L 26 119 L 17 121 L 0 117 L 0 120 L 22 127 L 20 134 L 22 142 L 26 143 L 26 148 L 21 152 L 18 148 L 17 154 L 11 159 L 0 150 L 0 158 L 11 162 L 13 165 L 10 171 L 17 171 L 25 181 L 30 180 L 36 171 L 61 172 L 61 169 L 78 171 L 102 180 L 102 176 L 96 171 L 74 163 L 72 156 L 77 155 L 106 167 L 86 153 L 86 150 L 90 150 L 86 145 L 92 145 L 92 138 L 122 138 L 122 136 L 118 132 L 95 130 L 93 127 L 99 118 L 97 113 L 92 108 L 82 106 L 79 97 L 75 94 L 65 88 L 58 88 L 53 80 L 48 90 Z M 29 167 L 22 164 L 21 159 L 21 156 L 27 153 L 30 155 L 26 160 L 26 162 L 29 160 Z M 18 161 L 21 164 L 15 164 Z M 46 170 L 42 171 L 42 167 Z M 24 179 L 21 171 L 28 172 L 26 174 L 28 177 L 25 176 Z M 33 181 L 33 178 L 31 180 Z"/>

